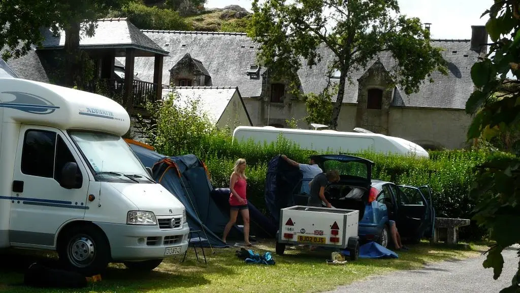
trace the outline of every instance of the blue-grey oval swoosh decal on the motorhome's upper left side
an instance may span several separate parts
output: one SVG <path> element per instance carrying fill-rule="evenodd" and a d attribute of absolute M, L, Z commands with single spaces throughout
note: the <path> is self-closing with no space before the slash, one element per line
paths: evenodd
<path fill-rule="evenodd" d="M 51 114 L 60 107 L 45 100 L 41 96 L 24 92 L 2 92 L 3 94 L 10 94 L 15 97 L 14 100 L 8 99 L 8 96 L 2 95 L 0 97 L 0 107 L 17 109 L 19 111 L 31 114 Z M 8 100 L 8 101 L 6 101 Z"/>

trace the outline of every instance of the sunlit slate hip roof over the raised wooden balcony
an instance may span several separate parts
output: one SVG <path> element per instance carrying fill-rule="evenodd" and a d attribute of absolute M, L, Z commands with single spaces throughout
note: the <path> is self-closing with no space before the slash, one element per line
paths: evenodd
<path fill-rule="evenodd" d="M 150 53 L 167 55 L 148 36 L 142 33 L 126 18 L 104 18 L 97 21 L 98 27 L 92 38 L 82 35 L 80 46 L 82 48 L 137 48 Z M 65 44 L 65 32 L 55 37 L 50 29 L 43 30 L 43 47 L 47 49 L 62 48 Z"/>

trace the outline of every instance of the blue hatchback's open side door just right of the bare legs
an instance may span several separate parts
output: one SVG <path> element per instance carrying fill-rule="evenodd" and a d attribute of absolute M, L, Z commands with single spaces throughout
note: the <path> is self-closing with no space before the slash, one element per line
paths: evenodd
<path fill-rule="evenodd" d="M 429 205 L 417 187 L 398 185 L 397 229 L 401 237 L 419 240 L 429 226 Z"/>

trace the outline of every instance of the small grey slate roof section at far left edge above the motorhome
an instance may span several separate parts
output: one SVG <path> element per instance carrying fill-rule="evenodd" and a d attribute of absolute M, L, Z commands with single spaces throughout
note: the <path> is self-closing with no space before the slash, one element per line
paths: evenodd
<path fill-rule="evenodd" d="M 0 50 L 0 56 L 2 56 L 4 51 Z M 9 65 L 12 71 L 15 71 L 19 78 L 49 83 L 47 72 L 34 48 L 20 58 L 9 58 L 7 65 Z"/>

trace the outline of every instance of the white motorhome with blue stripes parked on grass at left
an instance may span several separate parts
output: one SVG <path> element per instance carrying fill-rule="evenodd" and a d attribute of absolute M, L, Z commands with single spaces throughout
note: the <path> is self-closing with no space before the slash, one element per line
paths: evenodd
<path fill-rule="evenodd" d="M 188 248 L 184 205 L 121 138 L 105 96 L 0 78 L 0 248 L 57 250 L 71 270 L 153 270 Z"/>

